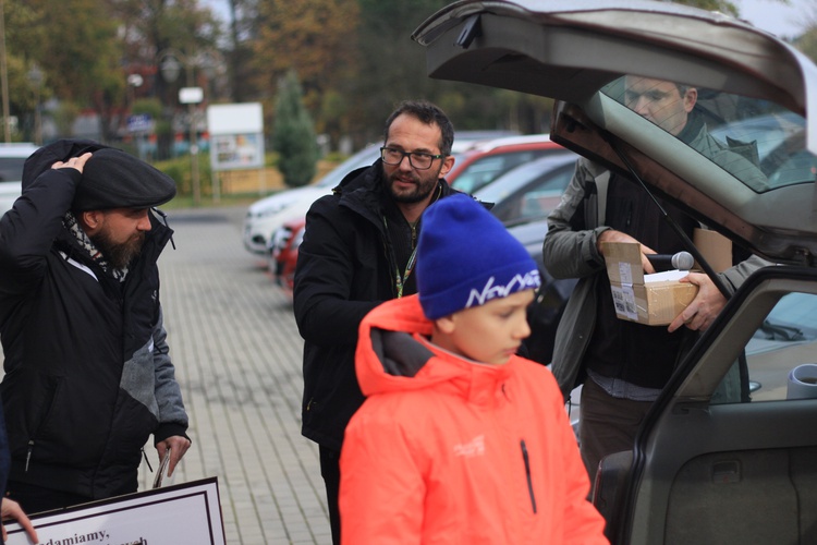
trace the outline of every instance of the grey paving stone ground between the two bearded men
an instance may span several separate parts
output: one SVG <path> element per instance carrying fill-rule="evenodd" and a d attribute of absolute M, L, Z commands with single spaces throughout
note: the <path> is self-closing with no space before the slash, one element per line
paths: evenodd
<path fill-rule="evenodd" d="M 317 447 L 300 432 L 303 340 L 290 299 L 242 246 L 245 210 L 168 210 L 161 300 L 193 439 L 169 483 L 218 477 L 229 544 L 328 544 Z"/>

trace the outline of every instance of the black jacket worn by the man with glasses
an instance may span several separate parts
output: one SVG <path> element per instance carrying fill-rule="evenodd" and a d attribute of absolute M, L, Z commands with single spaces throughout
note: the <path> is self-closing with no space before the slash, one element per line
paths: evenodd
<path fill-rule="evenodd" d="M 315 202 L 298 249 L 294 311 L 305 340 L 302 433 L 334 450 L 364 399 L 354 368 L 357 328 L 371 308 L 397 296 L 383 226 L 390 197 L 381 179 L 378 159 Z M 440 180 L 439 195 L 452 192 Z M 403 294 L 415 291 L 412 278 Z"/>

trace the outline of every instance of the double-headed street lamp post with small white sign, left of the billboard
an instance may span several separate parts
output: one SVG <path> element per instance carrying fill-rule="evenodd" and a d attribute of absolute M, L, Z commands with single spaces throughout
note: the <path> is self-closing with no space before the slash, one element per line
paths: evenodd
<path fill-rule="evenodd" d="M 202 201 L 202 182 L 198 175 L 198 138 L 196 136 L 195 113 L 196 105 L 204 100 L 204 89 L 195 87 L 193 70 L 200 68 L 207 74 L 212 69 L 210 56 L 185 56 L 179 51 L 168 50 L 159 62 L 161 75 L 168 83 L 173 83 L 179 78 L 182 68 L 186 69 L 186 87 L 179 89 L 179 102 L 187 105 L 187 116 L 190 125 L 190 155 L 191 155 L 191 179 L 193 184 L 193 205 L 198 206 Z M 209 76 L 209 74 L 208 74 Z"/>

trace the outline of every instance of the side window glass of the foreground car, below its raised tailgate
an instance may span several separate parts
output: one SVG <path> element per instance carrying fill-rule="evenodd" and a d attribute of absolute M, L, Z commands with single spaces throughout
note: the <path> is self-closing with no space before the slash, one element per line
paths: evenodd
<path fill-rule="evenodd" d="M 807 383 L 808 378 L 817 390 L 817 295 L 789 293 L 775 305 L 746 344 L 746 367 L 752 402 L 793 399 L 797 382 Z M 792 372 L 797 367 L 801 367 L 797 373 L 805 374 L 790 385 Z M 730 380 L 734 376 L 728 374 L 718 391 L 729 391 Z M 736 401 L 734 396 L 717 393 L 712 400 L 714 403 Z"/>

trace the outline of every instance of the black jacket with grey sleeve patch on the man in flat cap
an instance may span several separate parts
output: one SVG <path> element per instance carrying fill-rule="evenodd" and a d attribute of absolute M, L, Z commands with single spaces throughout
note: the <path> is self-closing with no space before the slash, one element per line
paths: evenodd
<path fill-rule="evenodd" d="M 172 231 L 151 217 L 124 283 L 63 227 L 81 174 L 46 170 L 0 220 L 1 385 L 11 479 L 89 498 L 137 488 L 141 449 L 184 435 L 156 261 Z"/>

